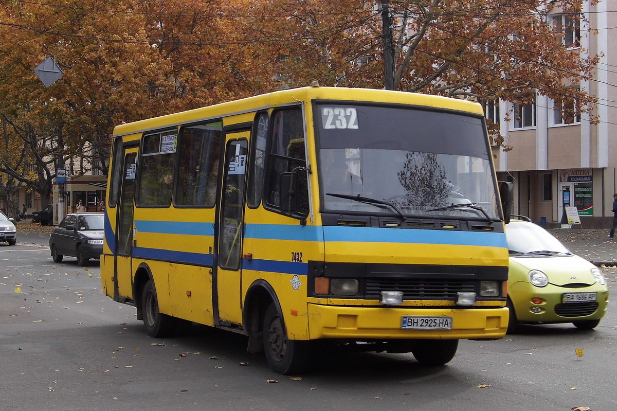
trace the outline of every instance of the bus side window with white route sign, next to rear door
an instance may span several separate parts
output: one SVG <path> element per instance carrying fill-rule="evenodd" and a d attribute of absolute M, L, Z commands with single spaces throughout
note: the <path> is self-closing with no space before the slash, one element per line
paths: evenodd
<path fill-rule="evenodd" d="M 172 202 L 173 160 L 177 134 L 144 136 L 137 205 L 168 207 Z"/>

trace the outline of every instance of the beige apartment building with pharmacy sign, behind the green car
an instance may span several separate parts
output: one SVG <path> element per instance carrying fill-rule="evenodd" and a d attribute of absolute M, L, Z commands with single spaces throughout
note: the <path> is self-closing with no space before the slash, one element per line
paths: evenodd
<path fill-rule="evenodd" d="M 547 18 L 563 30 L 569 48 L 603 54 L 594 77 L 573 85 L 598 99 L 600 123 L 590 123 L 587 114 L 564 116 L 563 102 L 539 93 L 536 104 L 491 104 L 487 117 L 499 122 L 505 144 L 512 147 L 494 148 L 494 154 L 500 180 L 514 183 L 515 214 L 558 227 L 564 206 L 576 205 L 582 228 L 610 228 L 617 193 L 617 1 L 585 3 L 582 12 L 589 27 L 550 7 Z"/>

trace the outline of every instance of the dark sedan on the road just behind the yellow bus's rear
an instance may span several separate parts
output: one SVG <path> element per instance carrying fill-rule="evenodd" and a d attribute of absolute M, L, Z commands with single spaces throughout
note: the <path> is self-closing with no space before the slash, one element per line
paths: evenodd
<path fill-rule="evenodd" d="M 49 249 L 55 262 L 65 255 L 77 257 L 77 264 L 88 265 L 103 252 L 103 213 L 72 213 L 51 231 Z"/>

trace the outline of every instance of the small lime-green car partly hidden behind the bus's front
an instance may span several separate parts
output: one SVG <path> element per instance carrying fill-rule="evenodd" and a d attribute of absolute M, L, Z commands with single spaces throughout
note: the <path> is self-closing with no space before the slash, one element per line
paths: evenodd
<path fill-rule="evenodd" d="M 506 238 L 508 331 L 521 323 L 573 323 L 582 330 L 600 323 L 607 312 L 608 286 L 599 268 L 531 221 L 513 218 Z"/>

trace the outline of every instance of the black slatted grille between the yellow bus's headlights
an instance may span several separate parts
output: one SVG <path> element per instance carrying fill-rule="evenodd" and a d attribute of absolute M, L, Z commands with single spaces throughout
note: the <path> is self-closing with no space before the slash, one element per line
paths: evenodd
<path fill-rule="evenodd" d="M 406 300 L 451 300 L 455 301 L 459 291 L 476 291 L 470 280 L 416 280 L 405 278 L 367 278 L 365 297 L 379 299 L 381 291 L 402 291 Z"/>

